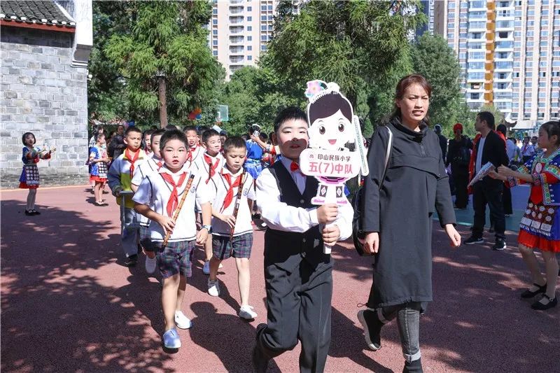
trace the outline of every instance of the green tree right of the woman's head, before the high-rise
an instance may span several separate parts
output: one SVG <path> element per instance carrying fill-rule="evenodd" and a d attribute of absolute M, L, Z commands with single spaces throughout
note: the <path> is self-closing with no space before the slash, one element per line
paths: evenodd
<path fill-rule="evenodd" d="M 430 121 L 452 132 L 459 113 L 464 110 L 461 93 L 461 68 L 453 49 L 440 35 L 424 33 L 412 48 L 412 64 L 432 85 Z"/>

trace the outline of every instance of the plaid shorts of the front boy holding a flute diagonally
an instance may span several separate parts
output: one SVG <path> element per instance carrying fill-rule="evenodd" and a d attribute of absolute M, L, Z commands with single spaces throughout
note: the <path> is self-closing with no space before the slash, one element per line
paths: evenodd
<path fill-rule="evenodd" d="M 174 274 L 182 274 L 185 277 L 193 275 L 195 243 L 194 239 L 192 241 L 169 242 L 163 251 L 155 253 L 155 258 L 158 259 L 158 267 L 164 279 Z"/>

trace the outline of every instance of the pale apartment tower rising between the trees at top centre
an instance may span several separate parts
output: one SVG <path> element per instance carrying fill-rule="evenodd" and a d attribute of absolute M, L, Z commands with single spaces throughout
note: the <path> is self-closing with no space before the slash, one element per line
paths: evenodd
<path fill-rule="evenodd" d="M 212 53 L 231 74 L 242 66 L 254 66 L 272 36 L 274 12 L 279 0 L 213 0 L 209 25 Z"/>

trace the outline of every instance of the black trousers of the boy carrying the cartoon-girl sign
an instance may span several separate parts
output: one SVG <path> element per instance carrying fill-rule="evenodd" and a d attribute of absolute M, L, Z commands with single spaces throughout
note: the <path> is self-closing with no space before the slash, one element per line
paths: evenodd
<path fill-rule="evenodd" d="M 332 264 L 312 267 L 306 260 L 293 272 L 265 267 L 267 328 L 257 335 L 257 348 L 267 358 L 302 342 L 300 372 L 323 372 L 330 346 Z"/>

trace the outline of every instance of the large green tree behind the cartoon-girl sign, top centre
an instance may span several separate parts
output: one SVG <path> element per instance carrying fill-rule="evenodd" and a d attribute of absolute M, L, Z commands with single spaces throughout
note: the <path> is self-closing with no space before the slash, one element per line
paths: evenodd
<path fill-rule="evenodd" d="M 360 118 L 377 122 L 392 101 L 386 85 L 396 83 L 386 77 L 409 71 L 408 36 L 425 16 L 407 10 L 419 5 L 415 0 L 311 0 L 300 15 L 276 18 L 260 66 L 275 76 L 278 92 L 301 104 L 307 81 L 334 81 Z"/>

